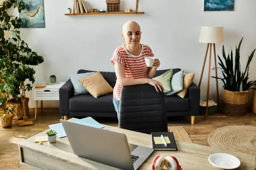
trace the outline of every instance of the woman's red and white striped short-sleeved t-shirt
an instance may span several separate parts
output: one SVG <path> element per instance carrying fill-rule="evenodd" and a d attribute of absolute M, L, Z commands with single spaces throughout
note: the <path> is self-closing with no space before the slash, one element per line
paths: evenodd
<path fill-rule="evenodd" d="M 138 56 L 130 54 L 124 45 L 116 48 L 111 59 L 111 63 L 121 63 L 125 68 L 125 77 L 132 79 L 147 78 L 148 67 L 145 63 L 145 57 L 154 57 L 154 53 L 148 45 L 141 44 L 141 52 Z M 113 88 L 113 96 L 120 100 L 122 86 L 116 79 L 116 85 Z"/>

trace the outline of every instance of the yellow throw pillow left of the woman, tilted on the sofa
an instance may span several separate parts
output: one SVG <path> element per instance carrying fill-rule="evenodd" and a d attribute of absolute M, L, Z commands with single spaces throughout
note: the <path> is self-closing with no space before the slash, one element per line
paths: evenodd
<path fill-rule="evenodd" d="M 86 90 L 95 98 L 105 94 L 113 93 L 113 88 L 104 79 L 102 74 L 97 71 L 95 74 L 78 79 Z"/>

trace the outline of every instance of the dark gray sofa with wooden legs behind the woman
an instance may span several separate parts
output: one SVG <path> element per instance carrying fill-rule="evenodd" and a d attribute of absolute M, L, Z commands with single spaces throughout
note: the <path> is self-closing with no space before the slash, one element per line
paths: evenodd
<path fill-rule="evenodd" d="M 157 77 L 169 69 L 157 70 L 154 77 Z M 173 69 L 173 74 L 180 71 L 180 68 Z M 79 70 L 78 74 L 93 72 Z M 115 72 L 100 71 L 105 80 L 114 87 L 116 83 Z M 189 86 L 186 96 L 182 99 L 176 94 L 165 96 L 167 117 L 171 116 L 192 116 L 194 124 L 195 116 L 199 115 L 200 88 L 194 82 Z M 73 94 L 73 84 L 70 79 L 59 89 L 60 115 L 67 119 L 72 117 L 116 117 L 113 106 L 113 94 L 100 96 L 97 99 L 90 94 Z"/>

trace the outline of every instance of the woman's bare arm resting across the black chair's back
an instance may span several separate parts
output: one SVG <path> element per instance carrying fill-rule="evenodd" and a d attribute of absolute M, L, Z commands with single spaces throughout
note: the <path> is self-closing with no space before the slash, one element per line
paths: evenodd
<path fill-rule="evenodd" d="M 122 64 L 119 62 L 115 62 L 115 72 L 116 72 L 116 78 L 117 81 L 120 83 L 121 86 L 128 86 L 128 85 L 142 85 L 142 84 L 150 84 L 155 87 L 156 91 L 158 92 L 158 89 L 160 91 L 163 91 L 163 85 L 154 79 L 131 79 L 125 77 L 125 69 Z"/>

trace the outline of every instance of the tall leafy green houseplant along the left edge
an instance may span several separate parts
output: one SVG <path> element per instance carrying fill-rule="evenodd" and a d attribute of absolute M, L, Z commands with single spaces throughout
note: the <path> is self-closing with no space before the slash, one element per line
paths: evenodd
<path fill-rule="evenodd" d="M 9 8 L 17 8 L 20 12 L 25 8 L 25 3 L 20 0 L 5 0 L 0 5 L 0 109 L 9 113 L 10 103 L 21 103 L 20 85 L 24 85 L 27 91 L 32 89 L 29 82 L 35 82 L 35 70 L 31 66 L 44 62 L 44 58 L 29 48 L 28 44 L 21 40 L 19 28 L 22 20 L 19 17 L 10 16 Z M 6 31 L 11 31 L 10 37 L 6 37 Z M 25 84 L 25 81 L 29 82 Z M 20 104 L 22 107 L 22 104 Z"/>

